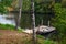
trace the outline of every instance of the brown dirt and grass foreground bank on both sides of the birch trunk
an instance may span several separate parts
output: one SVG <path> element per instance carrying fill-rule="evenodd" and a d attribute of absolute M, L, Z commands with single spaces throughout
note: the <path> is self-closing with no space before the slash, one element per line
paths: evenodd
<path fill-rule="evenodd" d="M 37 37 L 37 44 L 56 44 L 56 42 Z M 18 31 L 0 30 L 0 44 L 33 44 L 32 35 Z"/>

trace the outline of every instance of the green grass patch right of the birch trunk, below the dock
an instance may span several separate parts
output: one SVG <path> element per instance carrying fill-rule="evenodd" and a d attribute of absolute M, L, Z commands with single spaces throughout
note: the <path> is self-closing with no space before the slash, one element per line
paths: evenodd
<path fill-rule="evenodd" d="M 37 35 L 37 43 L 38 44 L 57 44 L 57 42 L 55 42 L 55 41 L 52 41 L 52 40 L 45 40 L 44 38 L 44 36 L 42 36 L 42 35 Z"/>

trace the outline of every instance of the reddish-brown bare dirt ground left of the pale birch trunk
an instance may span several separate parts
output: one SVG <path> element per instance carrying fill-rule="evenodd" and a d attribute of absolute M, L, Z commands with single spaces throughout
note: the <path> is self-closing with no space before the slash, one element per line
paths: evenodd
<path fill-rule="evenodd" d="M 23 44 L 29 40 L 30 35 L 26 33 L 19 33 L 18 31 L 0 30 L 0 44 Z"/>

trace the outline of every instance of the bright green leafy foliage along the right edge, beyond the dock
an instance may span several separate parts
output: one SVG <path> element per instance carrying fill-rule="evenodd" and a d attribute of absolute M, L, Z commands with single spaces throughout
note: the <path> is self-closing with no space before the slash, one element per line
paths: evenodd
<path fill-rule="evenodd" d="M 52 20 L 53 26 L 56 28 L 61 44 L 66 44 L 66 8 L 63 8 L 61 3 L 54 6 L 55 18 Z"/>

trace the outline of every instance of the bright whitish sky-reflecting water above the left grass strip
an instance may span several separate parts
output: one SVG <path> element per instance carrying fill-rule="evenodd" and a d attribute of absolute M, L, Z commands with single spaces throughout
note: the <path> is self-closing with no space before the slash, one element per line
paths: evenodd
<path fill-rule="evenodd" d="M 14 19 L 7 19 L 8 15 L 0 15 L 0 23 L 15 25 Z"/>

